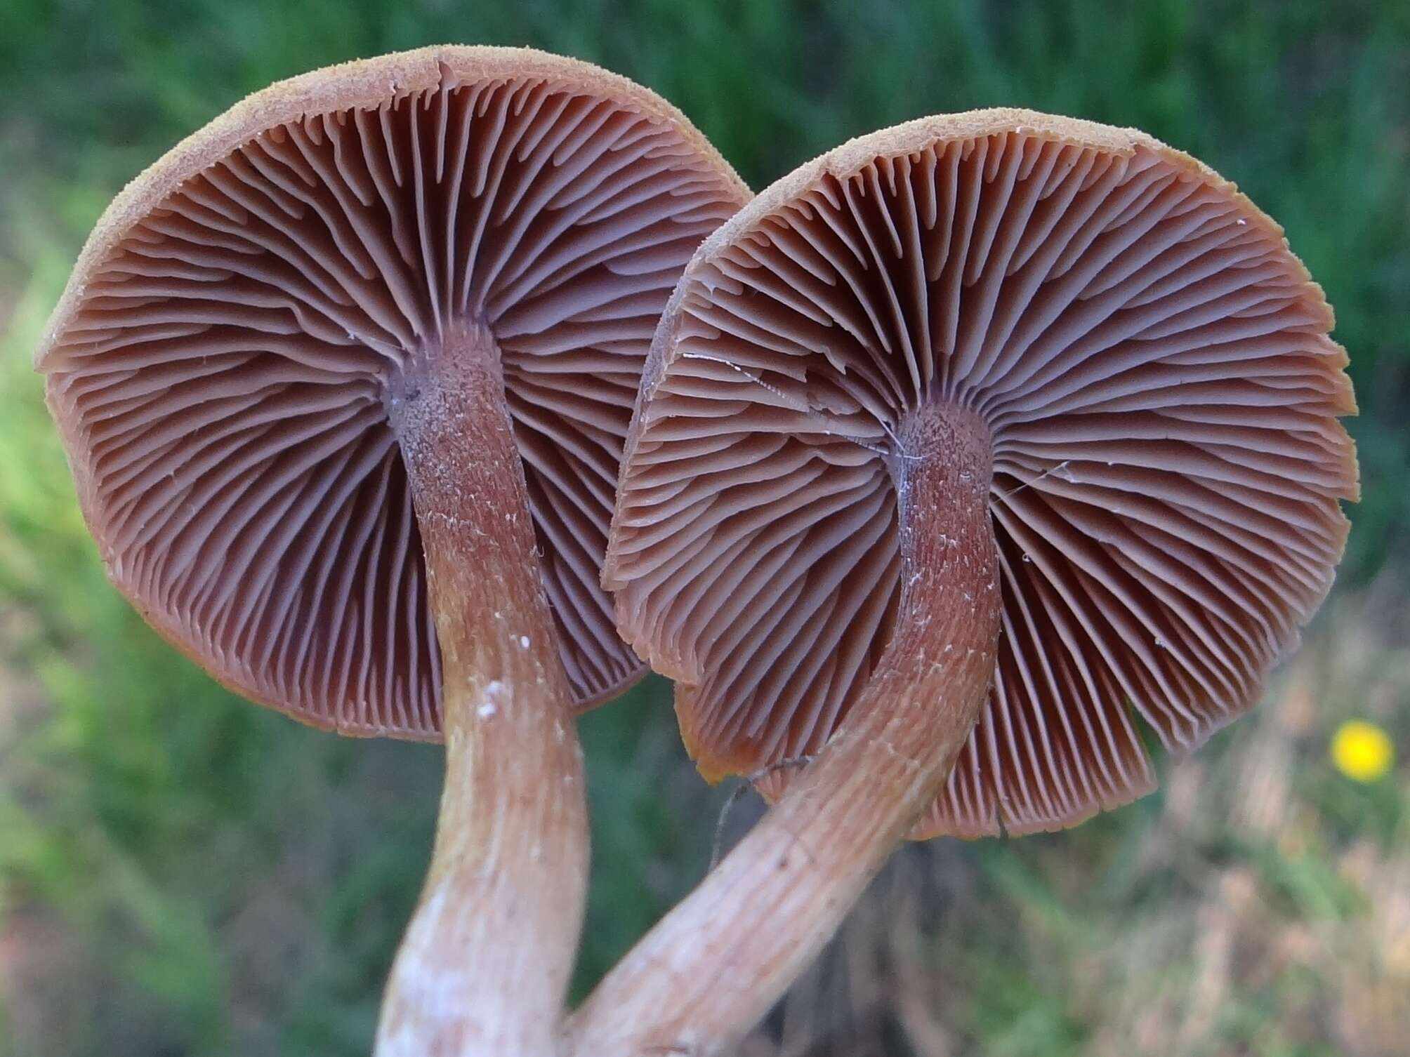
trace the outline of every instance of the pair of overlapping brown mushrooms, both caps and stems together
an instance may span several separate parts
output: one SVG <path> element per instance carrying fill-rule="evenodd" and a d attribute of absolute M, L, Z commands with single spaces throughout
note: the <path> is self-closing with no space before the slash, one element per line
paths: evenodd
<path fill-rule="evenodd" d="M 1187 751 L 1252 705 L 1356 492 L 1331 324 L 1138 132 L 926 118 L 750 202 L 622 78 L 434 48 L 176 147 L 37 362 L 154 627 L 303 722 L 446 741 L 378 1051 L 699 1056 L 902 839 L 1074 824 L 1152 788 L 1136 716 Z M 564 1019 L 572 715 L 633 650 L 774 805 Z"/>

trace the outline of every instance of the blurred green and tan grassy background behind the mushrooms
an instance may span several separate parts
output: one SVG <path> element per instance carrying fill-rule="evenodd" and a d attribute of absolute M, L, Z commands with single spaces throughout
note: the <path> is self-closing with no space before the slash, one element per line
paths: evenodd
<path fill-rule="evenodd" d="M 1354 785 L 1325 744 L 1348 716 L 1410 737 L 1410 4 L 6 0 L 0 1056 L 367 1050 L 439 754 L 298 727 L 157 640 L 103 578 L 28 362 L 103 206 L 179 137 L 271 80 L 440 41 L 634 78 L 756 187 L 854 134 L 1014 104 L 1145 128 L 1285 224 L 1337 306 L 1362 406 L 1341 616 L 1279 700 L 1163 793 L 1072 834 L 905 857 L 754 1041 L 1403 1053 L 1410 782 L 1402 765 Z M 708 855 L 722 795 L 684 765 L 667 699 L 649 682 L 584 722 L 580 989 Z"/>

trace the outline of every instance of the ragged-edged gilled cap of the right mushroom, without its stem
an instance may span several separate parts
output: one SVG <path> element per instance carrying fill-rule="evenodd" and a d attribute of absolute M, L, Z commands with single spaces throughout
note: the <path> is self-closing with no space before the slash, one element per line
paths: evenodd
<path fill-rule="evenodd" d="M 897 619 L 897 424 L 956 402 L 993 435 L 1001 641 L 915 836 L 1127 803 L 1153 788 L 1132 709 L 1193 750 L 1331 585 L 1356 495 L 1331 326 L 1282 230 L 1138 131 L 980 110 L 853 140 L 671 296 L 603 572 L 619 627 L 678 681 L 708 778 L 816 751 Z"/>

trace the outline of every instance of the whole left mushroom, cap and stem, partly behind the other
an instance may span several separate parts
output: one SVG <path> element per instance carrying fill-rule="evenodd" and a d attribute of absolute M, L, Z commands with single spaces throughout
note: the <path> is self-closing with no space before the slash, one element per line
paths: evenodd
<path fill-rule="evenodd" d="M 113 582 L 240 693 L 447 744 L 384 1053 L 547 1053 L 572 709 L 643 671 L 598 575 L 661 307 L 747 197 L 595 66 L 426 48 L 238 104 L 109 207 L 38 351 Z"/>

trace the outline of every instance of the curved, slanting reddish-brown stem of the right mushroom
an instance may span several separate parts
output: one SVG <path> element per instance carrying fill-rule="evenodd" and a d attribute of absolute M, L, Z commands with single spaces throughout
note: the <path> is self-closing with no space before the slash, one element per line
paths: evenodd
<path fill-rule="evenodd" d="M 994 675 L 988 428 L 929 404 L 897 434 L 901 603 L 866 691 L 739 846 L 570 1018 L 577 1057 L 705 1057 L 783 995 L 935 801 Z"/>

